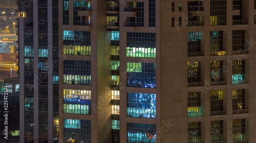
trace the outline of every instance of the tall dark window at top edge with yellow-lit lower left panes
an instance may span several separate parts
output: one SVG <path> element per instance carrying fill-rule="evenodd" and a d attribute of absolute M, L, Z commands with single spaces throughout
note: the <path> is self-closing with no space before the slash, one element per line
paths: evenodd
<path fill-rule="evenodd" d="M 226 0 L 210 1 L 210 25 L 226 25 Z"/>

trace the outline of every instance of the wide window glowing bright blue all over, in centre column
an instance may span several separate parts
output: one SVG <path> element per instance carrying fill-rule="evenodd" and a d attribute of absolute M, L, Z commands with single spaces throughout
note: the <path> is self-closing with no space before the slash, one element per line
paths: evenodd
<path fill-rule="evenodd" d="M 127 93 L 127 117 L 156 118 L 156 94 Z"/>

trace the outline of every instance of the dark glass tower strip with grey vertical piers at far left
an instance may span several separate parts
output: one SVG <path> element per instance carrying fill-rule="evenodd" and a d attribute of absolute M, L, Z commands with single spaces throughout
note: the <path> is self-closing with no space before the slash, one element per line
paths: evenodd
<path fill-rule="evenodd" d="M 17 1 L 20 142 L 57 142 L 58 1 Z"/>

